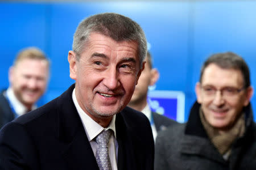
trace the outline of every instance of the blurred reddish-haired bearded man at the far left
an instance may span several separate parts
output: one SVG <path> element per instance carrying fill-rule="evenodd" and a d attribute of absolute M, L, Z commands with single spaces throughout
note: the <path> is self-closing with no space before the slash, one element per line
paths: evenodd
<path fill-rule="evenodd" d="M 38 48 L 21 50 L 9 70 L 9 88 L 0 94 L 0 128 L 36 108 L 46 91 L 49 61 Z"/>

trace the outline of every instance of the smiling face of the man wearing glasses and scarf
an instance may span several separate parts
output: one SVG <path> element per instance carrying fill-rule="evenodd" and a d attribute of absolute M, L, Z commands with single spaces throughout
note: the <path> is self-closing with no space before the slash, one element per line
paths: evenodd
<path fill-rule="evenodd" d="M 214 63 L 205 68 L 201 83 L 196 85 L 196 95 L 205 119 L 214 128 L 230 128 L 249 104 L 253 90 L 243 88 L 243 84 L 240 70 L 222 69 Z"/>

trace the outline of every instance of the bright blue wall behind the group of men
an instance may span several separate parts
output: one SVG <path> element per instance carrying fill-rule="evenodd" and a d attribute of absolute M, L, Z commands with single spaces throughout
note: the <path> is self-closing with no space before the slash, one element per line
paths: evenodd
<path fill-rule="evenodd" d="M 38 46 L 51 59 L 51 79 L 39 105 L 59 96 L 69 78 L 68 50 L 79 22 L 99 12 L 117 12 L 138 22 L 151 44 L 160 72 L 156 90 L 183 91 L 185 120 L 195 101 L 200 66 L 213 53 L 233 51 L 245 58 L 255 87 L 256 2 L 0 2 L 0 88 L 19 49 Z M 252 99 L 256 108 L 255 97 Z M 256 120 L 256 116 L 254 116 Z"/>

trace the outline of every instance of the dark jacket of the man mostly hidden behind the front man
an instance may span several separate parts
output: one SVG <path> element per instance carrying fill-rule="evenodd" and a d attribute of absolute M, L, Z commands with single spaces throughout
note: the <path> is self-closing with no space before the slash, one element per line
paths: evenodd
<path fill-rule="evenodd" d="M 178 124 L 178 122 L 171 120 L 170 118 L 158 114 L 156 112 L 151 112 L 155 124 L 156 131 L 166 130 L 169 126 Z"/>

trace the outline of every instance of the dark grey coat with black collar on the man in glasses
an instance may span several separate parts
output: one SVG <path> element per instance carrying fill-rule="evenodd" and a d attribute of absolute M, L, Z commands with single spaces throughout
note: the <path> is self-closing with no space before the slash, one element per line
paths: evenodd
<path fill-rule="evenodd" d="M 256 169 L 256 126 L 250 104 L 244 108 L 245 134 L 234 141 L 228 161 L 210 142 L 200 121 L 200 104 L 191 109 L 187 124 L 171 126 L 158 134 L 155 170 L 253 170 Z"/>

